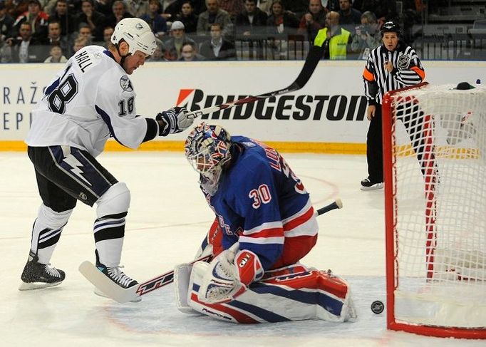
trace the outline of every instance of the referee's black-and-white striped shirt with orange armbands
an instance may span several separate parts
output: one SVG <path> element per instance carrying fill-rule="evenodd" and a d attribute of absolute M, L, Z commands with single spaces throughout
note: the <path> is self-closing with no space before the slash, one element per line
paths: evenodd
<path fill-rule="evenodd" d="M 384 64 L 393 63 L 390 73 Z M 413 86 L 425 78 L 425 71 L 415 50 L 400 41 L 391 52 L 384 45 L 374 48 L 368 56 L 363 71 L 365 95 L 368 105 L 381 104 L 381 99 L 390 90 Z"/>

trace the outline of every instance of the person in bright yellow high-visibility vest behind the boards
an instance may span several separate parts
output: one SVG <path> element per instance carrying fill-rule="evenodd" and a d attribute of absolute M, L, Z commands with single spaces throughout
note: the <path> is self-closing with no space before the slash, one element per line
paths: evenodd
<path fill-rule="evenodd" d="M 339 14 L 331 11 L 326 14 L 326 27 L 319 30 L 314 45 L 324 47 L 324 58 L 343 60 L 351 52 L 351 33 L 339 26 Z"/>

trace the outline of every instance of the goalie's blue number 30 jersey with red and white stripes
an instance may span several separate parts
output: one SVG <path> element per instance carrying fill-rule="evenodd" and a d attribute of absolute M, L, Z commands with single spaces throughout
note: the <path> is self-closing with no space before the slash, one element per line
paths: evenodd
<path fill-rule="evenodd" d="M 314 247 L 319 229 L 309 193 L 274 148 L 243 136 L 232 136 L 232 143 L 238 149 L 231 167 L 217 192 L 206 194 L 222 247 L 239 242 L 264 270 L 296 263 Z"/>

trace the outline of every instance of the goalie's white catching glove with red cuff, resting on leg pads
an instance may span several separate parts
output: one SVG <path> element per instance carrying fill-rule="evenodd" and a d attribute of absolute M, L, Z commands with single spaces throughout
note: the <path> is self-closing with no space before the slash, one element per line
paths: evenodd
<path fill-rule="evenodd" d="M 239 250 L 238 243 L 219 254 L 210 264 L 197 261 L 192 271 L 198 271 L 202 276 L 197 299 L 206 304 L 233 301 L 264 274 L 257 254 L 247 249 Z"/>

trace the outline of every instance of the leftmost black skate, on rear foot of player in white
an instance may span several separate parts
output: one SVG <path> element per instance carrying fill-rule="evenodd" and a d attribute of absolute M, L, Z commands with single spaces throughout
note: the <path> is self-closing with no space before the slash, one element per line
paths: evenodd
<path fill-rule="evenodd" d="M 66 278 L 63 270 L 58 270 L 51 264 L 41 264 L 38 257 L 32 251 L 29 252 L 29 259 L 21 275 L 19 291 L 30 289 L 41 289 L 48 286 L 57 286 Z"/>

